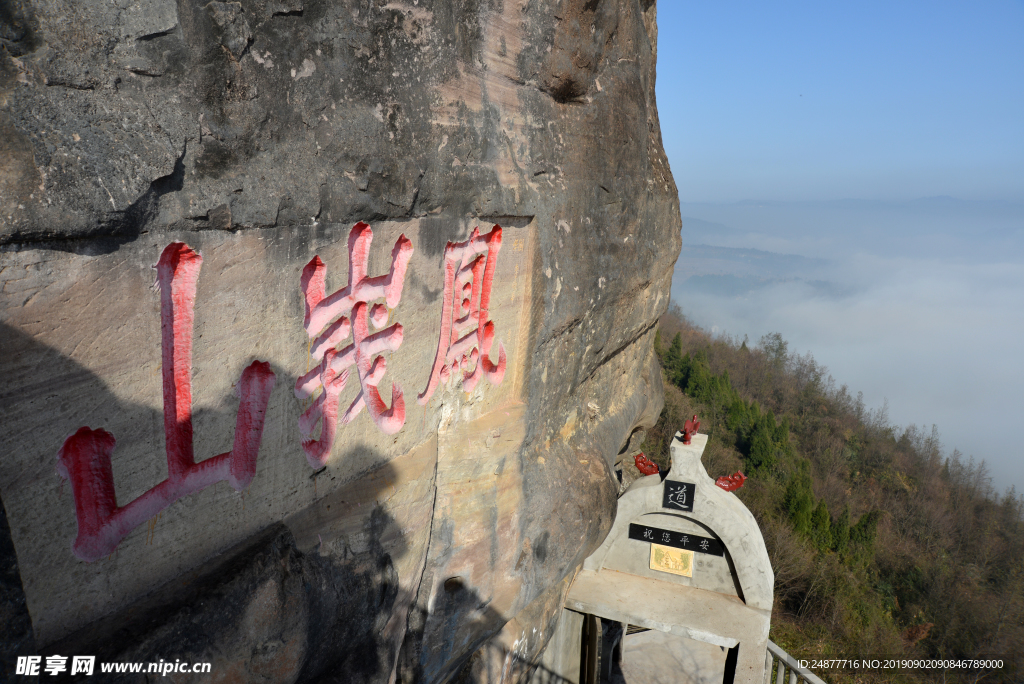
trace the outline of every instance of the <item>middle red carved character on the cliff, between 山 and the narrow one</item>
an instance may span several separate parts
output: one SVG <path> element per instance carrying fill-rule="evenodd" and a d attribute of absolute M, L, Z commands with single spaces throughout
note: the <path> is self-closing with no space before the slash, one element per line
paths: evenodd
<path fill-rule="evenodd" d="M 295 396 L 306 399 L 323 390 L 312 405 L 299 417 L 302 450 L 309 465 L 314 468 L 326 464 L 331 454 L 338 422 L 338 395 L 345 388 L 352 366 L 359 378 L 359 393 L 341 422 L 349 423 L 366 407 L 374 423 L 385 434 L 394 434 L 406 423 L 406 400 L 401 387 L 392 383 L 391 408 L 388 409 L 377 385 L 387 370 L 387 361 L 380 354 L 401 346 L 402 327 L 399 324 L 381 329 L 387 325 L 388 309 L 393 309 L 401 301 L 401 288 L 409 259 L 413 256 L 413 243 L 406 236 L 400 236 L 391 250 L 390 272 L 367 277 L 373 239 L 374 231 L 366 223 L 356 223 L 352 227 L 348 236 L 348 285 L 330 296 L 325 294 L 327 266 L 318 256 L 314 256 L 302 269 L 302 293 L 306 300 L 304 327 L 306 334 L 312 338 L 309 353 L 316 367 L 296 381 Z M 383 299 L 387 306 L 379 302 L 371 306 L 375 299 Z M 371 332 L 370 324 L 377 332 Z M 351 344 L 338 351 L 338 345 L 349 335 L 352 337 Z M 313 439 L 317 422 L 321 435 Z"/>

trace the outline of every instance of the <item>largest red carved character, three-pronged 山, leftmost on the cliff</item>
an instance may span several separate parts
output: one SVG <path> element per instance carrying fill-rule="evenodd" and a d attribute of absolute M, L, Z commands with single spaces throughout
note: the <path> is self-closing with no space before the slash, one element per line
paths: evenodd
<path fill-rule="evenodd" d="M 71 480 L 75 497 L 78 539 L 72 550 L 84 561 L 110 555 L 132 529 L 181 497 L 221 480 L 241 491 L 256 474 L 263 418 L 275 379 L 270 365 L 264 361 L 253 361 L 242 372 L 236 386 L 240 401 L 231 451 L 201 463 L 196 463 L 193 452 L 193 310 L 202 265 L 203 257 L 183 243 L 168 245 L 157 264 L 167 479 L 119 507 L 111 469 L 114 435 L 105 430 L 79 428 L 57 454 L 57 473 Z"/>

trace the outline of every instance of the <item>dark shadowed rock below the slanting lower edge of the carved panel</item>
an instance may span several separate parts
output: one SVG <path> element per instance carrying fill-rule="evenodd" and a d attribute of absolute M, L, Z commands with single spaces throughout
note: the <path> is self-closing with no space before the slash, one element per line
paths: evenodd
<path fill-rule="evenodd" d="M 303 552 L 288 525 L 274 524 L 47 654 L 95 654 L 96 681 L 109 682 L 152 675 L 99 673 L 100 662 L 162 659 L 210 662 L 221 681 L 386 682 L 403 636 L 387 629 L 402 598 L 395 546 L 380 541 L 393 521 L 375 508 L 360 524 L 365 548 L 343 557 Z"/>

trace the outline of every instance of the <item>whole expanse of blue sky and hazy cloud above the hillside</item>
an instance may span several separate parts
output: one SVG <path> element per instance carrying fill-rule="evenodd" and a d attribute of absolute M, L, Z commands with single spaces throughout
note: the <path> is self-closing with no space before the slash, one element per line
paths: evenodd
<path fill-rule="evenodd" d="M 717 333 L 781 333 L 1024 491 L 1024 2 L 657 13 L 673 301 Z M 741 249 L 817 261 L 752 272 Z"/>

